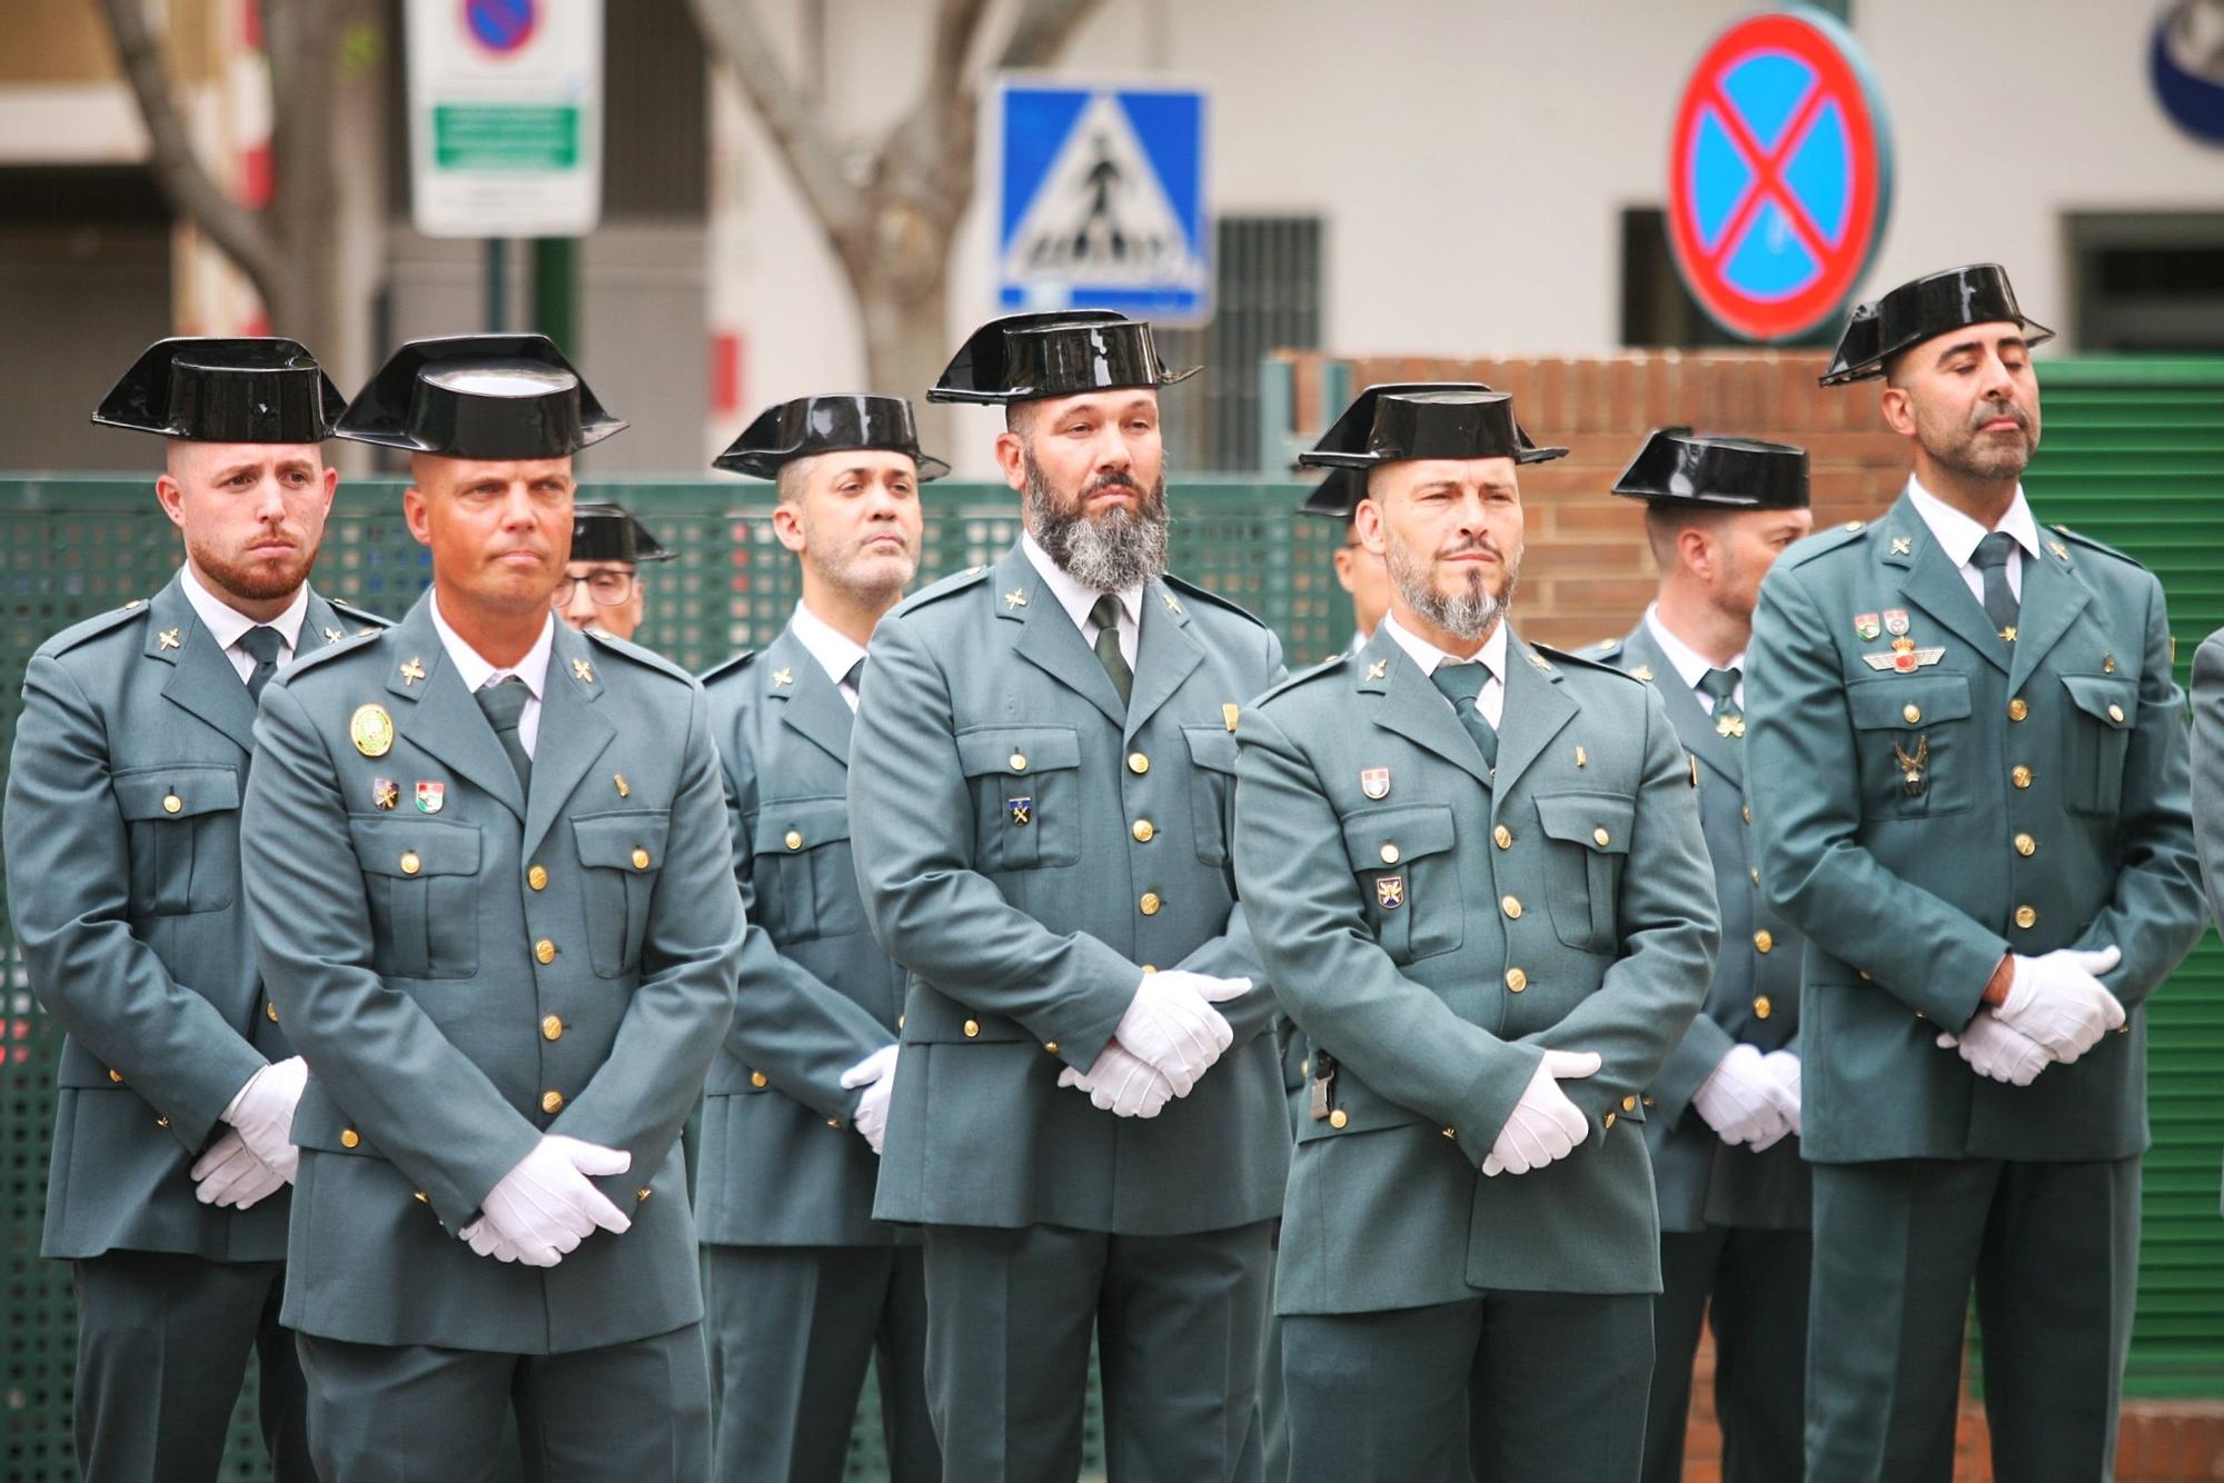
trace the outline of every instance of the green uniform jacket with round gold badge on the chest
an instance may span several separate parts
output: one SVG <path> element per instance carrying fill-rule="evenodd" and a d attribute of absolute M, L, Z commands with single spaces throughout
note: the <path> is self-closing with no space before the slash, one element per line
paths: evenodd
<path fill-rule="evenodd" d="M 420 598 L 274 680 L 256 738 L 256 945 L 311 1072 L 287 1327 L 552 1354 L 698 1321 L 676 1138 L 741 952 L 703 687 L 556 625 L 525 796 Z M 549 1270 L 476 1256 L 456 1232 L 543 1134 L 634 1156 L 598 1181 L 632 1230 Z"/>

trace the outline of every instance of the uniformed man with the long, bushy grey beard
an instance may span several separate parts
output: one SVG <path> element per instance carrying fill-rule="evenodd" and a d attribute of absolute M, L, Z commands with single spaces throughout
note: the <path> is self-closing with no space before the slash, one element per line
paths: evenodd
<path fill-rule="evenodd" d="M 865 914 L 910 972 L 874 1212 L 925 1227 L 954 1479 L 1072 1479 L 1090 1336 L 1123 1479 L 1259 1479 L 1290 1125 L 1228 865 L 1234 711 L 1281 669 L 1163 576 L 1150 325 L 985 325 L 1019 545 L 874 631 L 850 767 Z"/>

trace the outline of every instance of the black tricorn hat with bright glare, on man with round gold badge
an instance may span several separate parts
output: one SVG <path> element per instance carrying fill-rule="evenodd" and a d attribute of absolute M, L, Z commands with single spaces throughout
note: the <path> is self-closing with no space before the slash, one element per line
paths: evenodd
<path fill-rule="evenodd" d="M 409 340 L 334 431 L 447 458 L 565 458 L 625 427 L 547 336 Z"/>

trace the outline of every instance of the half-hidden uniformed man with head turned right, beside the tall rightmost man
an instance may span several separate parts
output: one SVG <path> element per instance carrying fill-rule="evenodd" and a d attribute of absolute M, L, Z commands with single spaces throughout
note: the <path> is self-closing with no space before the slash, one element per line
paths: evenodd
<path fill-rule="evenodd" d="M 1808 1176 L 1799 1163 L 1799 952 L 1746 849 L 1746 645 L 1770 563 L 1815 527 L 1806 451 L 1655 431 L 1615 480 L 1646 502 L 1659 598 L 1601 658 L 1661 691 L 1699 763 L 1721 961 L 1652 1078 L 1646 1147 L 1661 1205 L 1646 1483 L 1684 1476 L 1701 1318 L 1715 1330 L 1726 1483 L 1799 1476 Z"/>

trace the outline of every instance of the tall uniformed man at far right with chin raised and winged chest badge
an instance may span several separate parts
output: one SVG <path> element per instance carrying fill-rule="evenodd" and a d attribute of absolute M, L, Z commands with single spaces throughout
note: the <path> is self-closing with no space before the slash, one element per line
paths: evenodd
<path fill-rule="evenodd" d="M 2004 1479 L 2102 1479 L 2139 1250 L 2142 1003 L 2193 947 L 2184 691 L 2162 585 L 2062 527 L 1995 265 L 1859 305 L 1915 474 L 1793 547 L 1753 625 L 1748 794 L 1808 936 L 1808 1483 L 1946 1479 L 1970 1283 Z"/>

